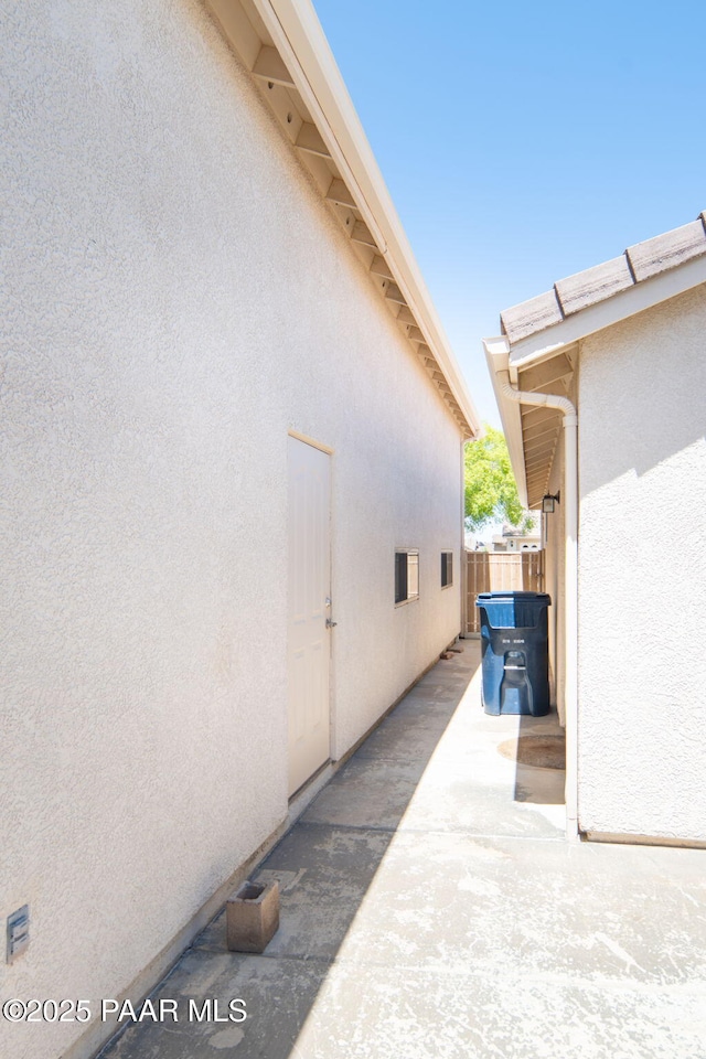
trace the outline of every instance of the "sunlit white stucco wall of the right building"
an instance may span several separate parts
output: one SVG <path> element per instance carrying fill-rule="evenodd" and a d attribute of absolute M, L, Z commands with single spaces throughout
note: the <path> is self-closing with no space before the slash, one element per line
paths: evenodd
<path fill-rule="evenodd" d="M 706 290 L 584 342 L 579 823 L 706 841 Z"/>

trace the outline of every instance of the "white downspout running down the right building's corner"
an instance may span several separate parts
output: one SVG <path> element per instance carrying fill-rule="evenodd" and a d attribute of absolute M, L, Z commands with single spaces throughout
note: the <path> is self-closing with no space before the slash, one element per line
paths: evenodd
<path fill-rule="evenodd" d="M 496 372 L 504 397 L 558 408 L 564 416 L 564 709 L 566 715 L 566 835 L 578 838 L 578 415 L 568 397 L 515 389 L 510 372 Z"/>

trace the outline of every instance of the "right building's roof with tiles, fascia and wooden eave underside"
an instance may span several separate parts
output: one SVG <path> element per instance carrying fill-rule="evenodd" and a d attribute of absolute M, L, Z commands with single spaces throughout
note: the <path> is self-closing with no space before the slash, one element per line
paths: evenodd
<path fill-rule="evenodd" d="M 574 399 L 582 339 L 700 284 L 706 284 L 706 211 L 501 313 L 503 334 L 483 345 L 523 504 L 536 507 L 548 492 L 561 415 L 512 400 L 498 373 L 506 372 L 520 391 Z"/>

